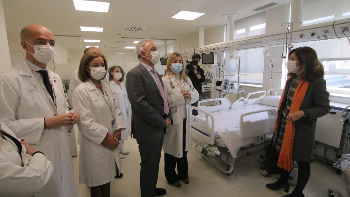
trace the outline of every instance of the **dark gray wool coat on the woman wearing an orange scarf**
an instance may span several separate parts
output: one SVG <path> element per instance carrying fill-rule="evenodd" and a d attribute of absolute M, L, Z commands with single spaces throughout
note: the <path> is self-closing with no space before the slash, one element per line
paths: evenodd
<path fill-rule="evenodd" d="M 274 145 L 278 139 L 281 129 L 282 110 L 286 107 L 287 94 L 292 84 L 292 79 L 287 81 L 286 90 L 282 95 L 281 108 L 278 111 L 277 131 L 274 137 Z M 299 95 L 294 95 L 294 97 Z M 314 152 L 315 131 L 317 118 L 328 114 L 330 110 L 329 93 L 327 91 L 326 82 L 323 78 L 309 82 L 304 100 L 300 110 L 303 110 L 305 117 L 301 117 L 295 121 L 295 134 L 293 141 L 293 161 L 309 162 Z"/>

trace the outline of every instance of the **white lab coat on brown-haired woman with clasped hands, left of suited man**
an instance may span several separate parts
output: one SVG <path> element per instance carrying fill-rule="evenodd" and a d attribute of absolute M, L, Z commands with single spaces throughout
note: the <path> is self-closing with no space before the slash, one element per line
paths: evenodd
<path fill-rule="evenodd" d="M 109 85 L 102 83 L 105 95 L 114 108 L 113 97 Z M 73 94 L 73 105 L 80 114 L 78 128 L 82 132 L 82 142 L 79 153 L 79 183 L 87 186 L 98 186 L 110 182 L 116 176 L 117 163 L 119 172 L 119 148 L 104 147 L 101 143 L 107 133 L 113 135 L 117 129 L 125 128 L 120 110 L 117 110 L 116 123 L 112 127 L 110 109 L 103 94 L 89 80 L 79 84 Z"/>

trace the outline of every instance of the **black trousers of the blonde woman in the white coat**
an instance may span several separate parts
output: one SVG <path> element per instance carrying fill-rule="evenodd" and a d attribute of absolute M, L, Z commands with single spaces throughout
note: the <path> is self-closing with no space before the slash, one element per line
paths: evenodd
<path fill-rule="evenodd" d="M 182 134 L 182 157 L 177 158 L 173 155 L 164 153 L 164 172 L 165 178 L 169 184 L 188 178 L 188 161 L 186 151 L 186 118 L 183 119 Z M 175 168 L 177 166 L 177 174 Z"/>

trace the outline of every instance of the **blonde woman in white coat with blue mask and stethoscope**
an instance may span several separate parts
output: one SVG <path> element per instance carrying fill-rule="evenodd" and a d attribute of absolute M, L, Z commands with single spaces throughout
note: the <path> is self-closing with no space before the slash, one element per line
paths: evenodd
<path fill-rule="evenodd" d="M 172 53 L 168 57 L 167 74 L 162 80 L 174 121 L 166 129 L 163 143 L 165 177 L 169 184 L 180 187 L 179 180 L 189 183 L 187 152 L 191 147 L 191 121 L 187 119 L 192 115 L 191 104 L 198 100 L 199 95 L 185 74 L 179 53 Z"/>

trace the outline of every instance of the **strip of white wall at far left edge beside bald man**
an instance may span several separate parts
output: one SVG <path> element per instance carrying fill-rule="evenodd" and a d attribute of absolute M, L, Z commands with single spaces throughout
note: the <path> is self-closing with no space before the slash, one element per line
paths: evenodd
<path fill-rule="evenodd" d="M 5 26 L 5 16 L 3 14 L 2 0 L 0 0 L 0 57 L 1 66 L 0 73 L 11 68 L 10 52 L 8 49 L 6 26 Z"/>

